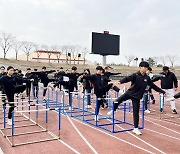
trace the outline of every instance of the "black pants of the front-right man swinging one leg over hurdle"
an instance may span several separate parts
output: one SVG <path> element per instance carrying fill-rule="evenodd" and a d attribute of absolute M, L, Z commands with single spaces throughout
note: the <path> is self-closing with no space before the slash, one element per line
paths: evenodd
<path fill-rule="evenodd" d="M 130 96 L 127 92 L 121 95 L 119 98 L 117 98 L 117 102 L 114 104 L 114 111 L 118 108 L 118 105 L 121 104 L 123 101 L 126 101 L 128 99 L 132 100 L 133 105 L 133 120 L 134 120 L 134 127 L 138 128 L 139 125 L 139 108 L 140 108 L 140 99 L 136 99 L 132 96 Z"/>

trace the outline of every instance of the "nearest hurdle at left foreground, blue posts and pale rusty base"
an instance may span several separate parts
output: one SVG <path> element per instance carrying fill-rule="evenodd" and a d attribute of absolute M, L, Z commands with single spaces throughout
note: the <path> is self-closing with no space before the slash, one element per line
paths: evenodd
<path fill-rule="evenodd" d="M 58 111 L 58 137 L 54 137 L 52 135 L 52 133 L 50 131 L 48 131 L 48 111 L 51 110 L 56 110 Z M 46 141 L 53 141 L 53 140 L 57 140 L 60 139 L 60 130 L 61 130 L 61 109 L 60 108 L 55 108 L 55 109 L 49 109 L 46 107 L 46 109 L 41 109 L 41 110 L 23 110 L 23 111 L 13 111 L 12 112 L 12 127 L 11 127 L 11 135 L 7 135 L 6 134 L 6 123 L 4 123 L 4 137 L 6 137 L 6 139 L 8 140 L 8 142 L 11 144 L 12 147 L 15 146 L 21 146 L 21 145 L 27 145 L 27 144 L 33 144 L 33 143 L 40 143 L 40 142 L 46 142 Z M 33 121 L 32 119 L 30 119 L 30 121 L 35 125 L 35 126 L 39 126 L 42 130 L 40 131 L 32 131 L 32 132 L 25 132 L 25 133 L 19 133 L 19 134 L 15 134 L 15 121 L 14 121 L 14 113 L 19 113 L 22 114 L 24 117 L 28 118 L 26 115 L 24 115 L 24 113 L 28 113 L 28 112 L 45 112 L 46 114 L 46 118 L 45 118 L 45 123 L 46 123 L 46 127 L 44 128 L 43 126 L 41 126 L 39 123 L 37 123 L 37 121 Z M 36 119 L 38 117 L 36 116 Z M 49 135 L 52 136 L 52 138 L 48 138 L 48 139 L 43 139 L 43 140 L 36 140 L 36 141 L 30 141 L 30 142 L 22 142 L 22 143 L 18 143 L 15 144 L 14 143 L 14 138 L 15 136 L 21 136 L 21 135 L 27 135 L 27 134 L 36 134 L 36 133 L 42 133 L 42 132 L 47 132 Z"/>

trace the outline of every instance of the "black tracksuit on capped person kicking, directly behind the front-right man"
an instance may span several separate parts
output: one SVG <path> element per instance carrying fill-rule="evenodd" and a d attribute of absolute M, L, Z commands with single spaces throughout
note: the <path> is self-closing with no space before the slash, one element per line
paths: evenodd
<path fill-rule="evenodd" d="M 90 80 L 93 83 L 94 93 L 96 94 L 97 97 L 97 108 L 95 113 L 98 115 L 100 105 L 103 105 L 103 100 L 102 100 L 103 95 L 112 88 L 113 84 L 104 85 L 103 77 L 100 74 L 87 75 L 84 76 L 83 78 Z"/>

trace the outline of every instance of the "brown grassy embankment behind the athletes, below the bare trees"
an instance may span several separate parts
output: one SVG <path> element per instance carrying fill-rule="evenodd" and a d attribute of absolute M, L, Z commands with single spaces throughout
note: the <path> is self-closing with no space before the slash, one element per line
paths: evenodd
<path fill-rule="evenodd" d="M 63 67 L 65 70 L 66 69 L 70 69 L 72 66 L 74 66 L 74 64 L 58 64 L 58 63 L 42 63 L 42 62 L 32 62 L 32 61 L 22 61 L 22 60 L 14 60 L 14 59 L 3 59 L 0 58 L 0 65 L 4 65 L 4 66 L 9 66 L 12 65 L 15 68 L 21 69 L 23 71 L 25 71 L 28 67 L 30 67 L 31 69 L 37 68 L 38 70 L 41 70 L 42 66 L 46 66 L 48 70 L 50 69 L 57 69 L 59 67 Z M 92 73 L 95 72 L 95 67 L 94 65 L 83 65 L 83 64 L 76 64 L 77 68 L 78 68 L 78 72 L 82 72 L 85 68 L 89 68 L 91 70 Z M 138 67 L 134 67 L 134 66 L 111 66 L 114 69 L 112 70 L 112 72 L 121 72 L 122 76 L 127 76 L 135 71 L 138 70 Z M 159 73 L 161 72 L 162 68 L 157 68 L 157 67 L 153 67 L 153 73 Z M 173 69 L 171 69 L 172 72 L 175 72 L 175 74 L 177 75 L 178 79 L 180 79 L 180 67 L 175 67 Z"/>

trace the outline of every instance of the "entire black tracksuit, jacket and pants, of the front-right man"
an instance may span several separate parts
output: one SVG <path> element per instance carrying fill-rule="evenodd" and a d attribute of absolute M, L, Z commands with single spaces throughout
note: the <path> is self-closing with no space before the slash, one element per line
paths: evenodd
<path fill-rule="evenodd" d="M 134 119 L 134 127 L 138 128 L 139 125 L 139 107 L 140 107 L 140 99 L 143 97 L 145 90 L 149 88 L 153 88 L 157 92 L 165 93 L 162 89 L 157 87 L 150 79 L 148 75 L 142 75 L 140 71 L 133 73 L 132 75 L 125 77 L 120 80 L 120 83 L 127 83 L 131 81 L 131 87 L 119 98 L 117 98 L 117 102 L 114 104 L 114 110 L 118 108 L 118 105 L 123 101 L 128 99 L 132 100 L 133 105 L 133 119 Z"/>

